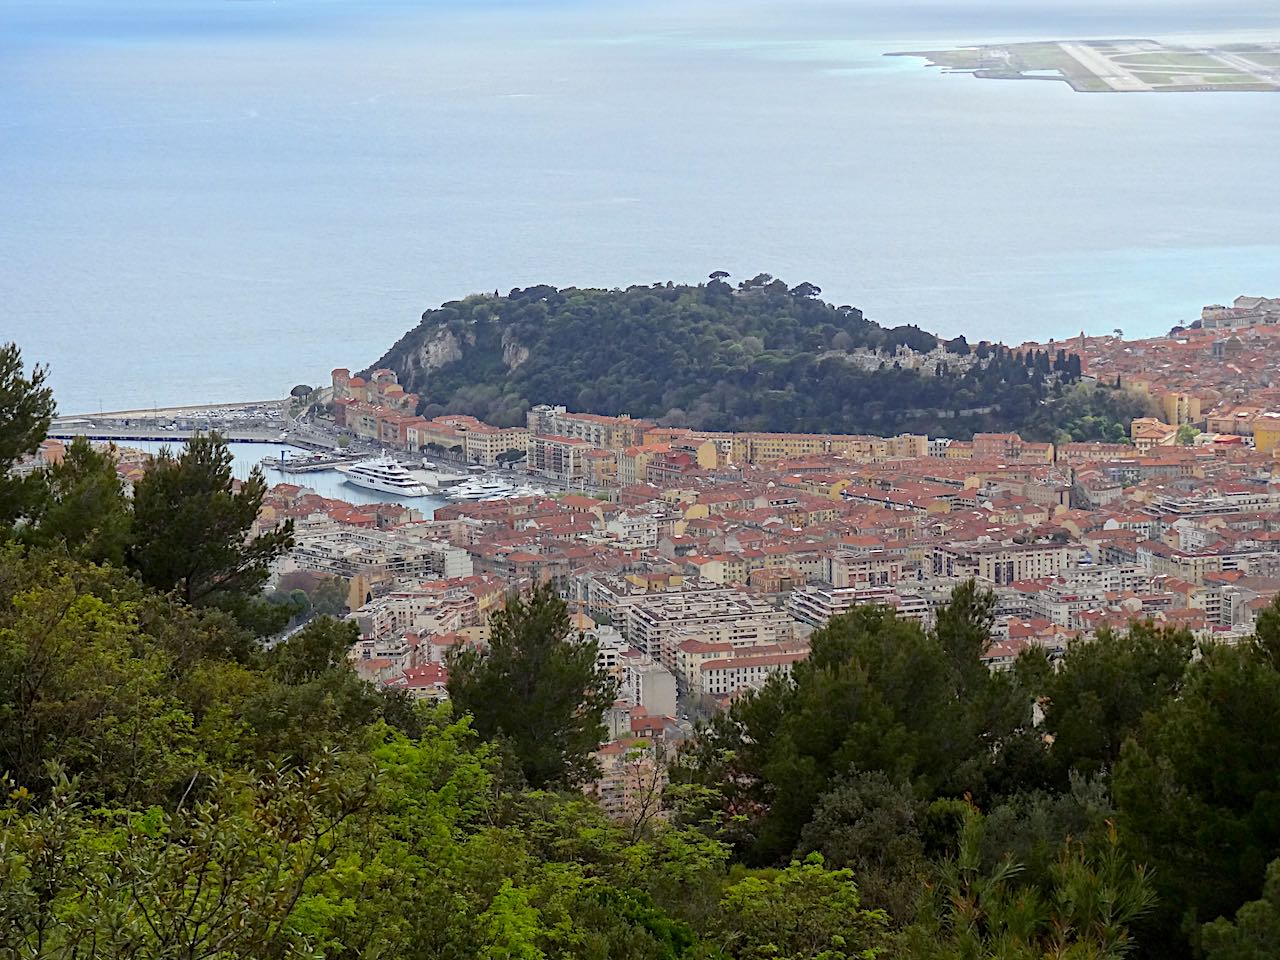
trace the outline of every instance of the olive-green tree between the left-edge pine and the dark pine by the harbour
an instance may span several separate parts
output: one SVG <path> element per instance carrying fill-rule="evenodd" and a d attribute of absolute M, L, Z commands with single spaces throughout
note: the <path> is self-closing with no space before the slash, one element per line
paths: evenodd
<path fill-rule="evenodd" d="M 120 566 L 133 513 L 115 472 L 114 448 L 96 451 L 77 436 L 61 462 L 46 467 L 40 481 L 24 539 L 59 544 L 92 563 Z"/>

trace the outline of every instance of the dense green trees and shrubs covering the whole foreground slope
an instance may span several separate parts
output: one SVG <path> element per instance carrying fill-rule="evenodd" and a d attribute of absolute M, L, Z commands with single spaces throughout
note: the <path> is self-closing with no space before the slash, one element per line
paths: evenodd
<path fill-rule="evenodd" d="M 51 398 L 8 370 L 17 457 Z M 224 454 L 132 503 L 83 447 L 6 481 L 0 956 L 1280 955 L 1280 605 L 1236 648 L 1137 625 L 995 673 L 972 584 L 931 630 L 859 608 L 703 732 L 666 818 L 611 822 L 577 787 L 613 690 L 554 590 L 452 707 L 379 691 L 351 625 L 279 635 L 289 532 L 248 536 Z"/>

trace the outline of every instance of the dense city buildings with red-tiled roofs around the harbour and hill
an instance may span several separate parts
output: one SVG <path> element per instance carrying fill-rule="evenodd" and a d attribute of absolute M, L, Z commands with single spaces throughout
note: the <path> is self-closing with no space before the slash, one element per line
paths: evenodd
<path fill-rule="evenodd" d="M 707 433 L 547 404 L 495 428 L 416 416 L 385 371 L 335 371 L 340 429 L 485 465 L 524 451 L 518 468 L 570 492 L 431 520 L 294 488 L 261 522 L 293 517 L 292 568 L 358 586 L 353 663 L 413 696 L 444 695 L 449 652 L 485 643 L 507 591 L 554 580 L 618 681 L 590 790 L 643 817 L 685 714 L 786 677 L 860 605 L 928 630 L 975 580 L 996 599 L 992 669 L 1137 620 L 1247 636 L 1280 593 L 1280 329 L 1270 301 L 1221 311 L 1166 338 L 1042 348 L 1147 394 L 1123 443 Z"/>

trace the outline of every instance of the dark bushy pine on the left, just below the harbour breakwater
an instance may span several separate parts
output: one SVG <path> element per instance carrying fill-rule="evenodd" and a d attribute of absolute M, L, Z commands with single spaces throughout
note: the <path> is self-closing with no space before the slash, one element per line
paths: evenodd
<path fill-rule="evenodd" d="M 129 566 L 187 603 L 242 608 L 293 545 L 293 521 L 250 536 L 265 494 L 259 467 L 236 489 L 232 453 L 218 434 L 192 438 L 177 457 L 161 451 L 133 488 Z"/>

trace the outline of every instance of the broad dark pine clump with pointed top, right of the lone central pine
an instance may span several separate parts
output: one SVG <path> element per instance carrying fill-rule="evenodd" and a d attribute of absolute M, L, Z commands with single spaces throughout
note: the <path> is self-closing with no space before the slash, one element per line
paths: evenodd
<path fill-rule="evenodd" d="M 934 632 L 891 609 L 855 607 L 810 637 L 809 659 L 714 722 L 692 776 L 731 785 L 753 858 L 795 849 L 818 799 L 849 771 L 936 791 L 983 790 L 1029 724 L 1032 695 L 980 663 L 992 600 L 959 588 Z M 749 812 L 749 813 L 748 813 Z"/>

